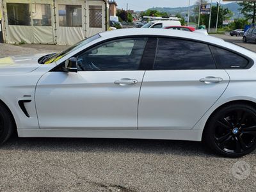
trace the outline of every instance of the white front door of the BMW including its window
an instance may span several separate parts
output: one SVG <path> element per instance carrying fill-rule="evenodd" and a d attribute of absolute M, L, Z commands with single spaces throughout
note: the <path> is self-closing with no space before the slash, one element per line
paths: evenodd
<path fill-rule="evenodd" d="M 146 43 L 111 40 L 78 54 L 79 72 L 47 72 L 36 86 L 40 129 L 138 129 Z"/>

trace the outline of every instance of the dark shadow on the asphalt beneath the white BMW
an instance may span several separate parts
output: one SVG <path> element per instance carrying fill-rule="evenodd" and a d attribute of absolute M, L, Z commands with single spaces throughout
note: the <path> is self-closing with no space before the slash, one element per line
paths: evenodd
<path fill-rule="evenodd" d="M 204 143 L 175 140 L 134 140 L 99 138 L 18 138 L 12 136 L 1 150 L 49 152 L 121 152 L 170 154 L 174 156 L 220 157 Z"/>

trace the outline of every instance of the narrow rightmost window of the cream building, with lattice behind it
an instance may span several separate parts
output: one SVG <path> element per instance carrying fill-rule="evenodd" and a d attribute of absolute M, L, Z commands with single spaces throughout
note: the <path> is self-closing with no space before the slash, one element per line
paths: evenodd
<path fill-rule="evenodd" d="M 89 6 L 90 28 L 102 28 L 102 6 Z"/>

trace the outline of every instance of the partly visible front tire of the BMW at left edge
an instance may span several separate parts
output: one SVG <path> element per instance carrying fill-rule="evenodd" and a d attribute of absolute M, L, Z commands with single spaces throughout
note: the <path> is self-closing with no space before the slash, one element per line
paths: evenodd
<path fill-rule="evenodd" d="M 0 102 L 0 144 L 3 144 L 12 135 L 15 122 L 12 113 Z"/>

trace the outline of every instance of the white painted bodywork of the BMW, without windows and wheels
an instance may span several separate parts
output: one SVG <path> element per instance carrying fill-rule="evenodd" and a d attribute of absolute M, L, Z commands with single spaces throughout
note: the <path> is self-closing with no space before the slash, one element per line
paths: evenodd
<path fill-rule="evenodd" d="M 200 40 L 235 50 L 256 62 L 254 52 L 219 38 L 186 31 L 120 29 L 100 36 L 47 65 L 37 63 L 40 55 L 16 56 L 12 57 L 13 63 L 0 64 L 0 100 L 12 112 L 20 137 L 201 141 L 205 123 L 217 108 L 234 100 L 256 103 L 255 65 L 244 70 L 51 72 L 77 52 L 117 36 Z M 3 63 L 10 58 L 1 60 Z M 200 82 L 212 76 L 223 81 Z M 114 83 L 122 78 L 136 79 L 138 83 Z M 29 117 L 20 108 L 19 100 L 30 101 L 24 103 Z"/>

